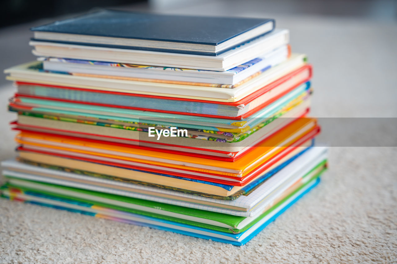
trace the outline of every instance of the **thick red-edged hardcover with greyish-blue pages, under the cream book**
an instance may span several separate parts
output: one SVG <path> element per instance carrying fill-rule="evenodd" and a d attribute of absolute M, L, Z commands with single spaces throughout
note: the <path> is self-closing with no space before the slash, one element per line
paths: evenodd
<path fill-rule="evenodd" d="M 69 103 L 84 103 L 93 106 L 115 107 L 119 109 L 161 111 L 170 114 L 238 120 L 251 116 L 259 109 L 276 101 L 298 86 L 306 85 L 310 87 L 310 82 L 307 81 L 311 78 L 311 75 L 311 65 L 304 65 L 237 102 L 205 101 L 199 99 L 129 94 L 19 81 L 15 82 L 18 89 L 18 93 L 15 96 L 50 99 Z M 270 96 L 269 98 L 271 99 L 268 97 L 262 99 L 263 96 L 270 94 L 274 89 L 277 90 L 280 86 L 286 86 L 287 89 L 277 94 L 277 96 Z M 246 110 L 246 112 L 239 115 L 239 110 Z M 234 115 L 231 115 L 231 112 L 233 112 Z"/>

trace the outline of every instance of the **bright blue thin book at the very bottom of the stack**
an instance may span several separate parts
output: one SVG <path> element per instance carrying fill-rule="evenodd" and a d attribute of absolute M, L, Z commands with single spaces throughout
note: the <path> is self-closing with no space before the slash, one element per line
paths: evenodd
<path fill-rule="evenodd" d="M 51 197 L 50 195 L 32 195 L 32 193 L 30 193 L 30 195 L 24 195 L 22 192 L 11 193 L 8 189 L 3 189 L 2 196 L 9 199 L 16 199 L 16 201 L 24 201 L 25 203 L 67 210 L 70 212 L 86 214 L 138 226 L 148 226 L 150 228 L 172 231 L 174 233 L 190 235 L 192 237 L 211 239 L 213 241 L 242 246 L 273 222 L 280 214 L 285 212 L 285 210 L 301 199 L 319 182 L 320 178 L 310 180 L 310 182 L 304 184 L 304 186 L 293 195 L 285 198 L 283 201 L 272 207 L 272 209 L 269 209 L 262 214 L 260 219 L 258 219 L 258 221 L 256 221 L 256 223 L 250 228 L 240 233 L 216 231 L 213 229 L 164 220 L 152 216 L 112 210 L 105 207 L 93 207 L 90 203 L 83 203 L 71 199 L 60 199 L 59 197 Z"/>

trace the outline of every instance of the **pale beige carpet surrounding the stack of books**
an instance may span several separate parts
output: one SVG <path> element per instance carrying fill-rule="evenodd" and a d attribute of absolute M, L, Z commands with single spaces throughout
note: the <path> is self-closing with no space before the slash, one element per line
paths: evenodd
<path fill-rule="evenodd" d="M 233 12 L 273 16 L 243 5 Z M 395 23 L 273 17 L 314 64 L 313 115 L 397 117 Z M 0 87 L 0 160 L 14 155 L 11 94 Z M 320 185 L 243 247 L 0 199 L 0 262 L 397 262 L 396 157 L 396 147 L 331 147 Z"/>

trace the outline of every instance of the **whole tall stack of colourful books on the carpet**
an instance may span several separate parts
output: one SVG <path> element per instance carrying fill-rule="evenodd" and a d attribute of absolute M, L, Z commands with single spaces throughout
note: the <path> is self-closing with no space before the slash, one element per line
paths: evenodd
<path fill-rule="evenodd" d="M 273 19 L 99 11 L 6 70 L 2 195 L 243 245 L 319 182 L 311 66 Z"/>

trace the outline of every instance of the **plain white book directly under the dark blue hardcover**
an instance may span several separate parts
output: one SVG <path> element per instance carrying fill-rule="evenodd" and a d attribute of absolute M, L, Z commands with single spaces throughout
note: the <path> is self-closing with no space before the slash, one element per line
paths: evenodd
<path fill-rule="evenodd" d="M 246 44 L 237 46 L 218 56 L 129 50 L 34 40 L 30 41 L 29 45 L 35 47 L 33 50 L 34 55 L 43 57 L 61 57 L 139 65 L 227 71 L 228 69 L 258 57 L 260 54 L 265 54 L 275 48 L 286 45 L 288 42 L 289 31 L 287 29 L 279 29 Z"/>

